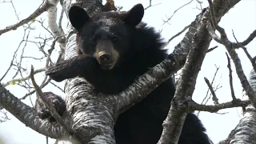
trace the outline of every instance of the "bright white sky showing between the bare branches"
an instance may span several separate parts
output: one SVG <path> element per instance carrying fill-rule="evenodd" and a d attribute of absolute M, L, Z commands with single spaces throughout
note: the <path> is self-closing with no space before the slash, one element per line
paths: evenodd
<path fill-rule="evenodd" d="M 2 2 L 2 0 L 0 0 Z M 37 7 L 41 4 L 42 1 L 34 1 L 34 0 L 13 0 L 14 6 L 16 7 L 18 17 L 20 19 L 26 18 L 29 14 L 31 14 Z M 149 5 L 149 0 L 138 0 L 138 1 L 130 1 L 130 0 L 116 0 L 115 4 L 117 6 L 123 6 L 123 10 L 129 10 L 134 4 L 142 3 L 143 6 Z M 196 1 L 190 3 L 190 5 L 183 7 L 181 10 L 178 10 L 174 17 L 170 20 L 170 24 L 162 25 L 162 19 L 166 20 L 166 18 L 170 17 L 178 7 L 184 5 L 185 3 L 190 2 L 189 0 L 182 1 L 170 1 L 170 0 L 152 0 L 152 4 L 158 4 L 158 6 L 151 7 L 146 10 L 146 14 L 143 18 L 144 22 L 147 22 L 150 26 L 154 26 L 157 30 L 162 30 L 163 38 L 170 38 L 174 34 L 177 34 L 180 30 L 190 24 L 190 22 L 194 21 L 195 16 L 200 12 L 195 9 L 198 4 Z M 208 6 L 206 0 L 202 1 L 202 7 Z M 60 14 L 61 7 L 58 6 L 58 15 Z M 40 18 L 46 19 L 46 13 L 42 14 Z M 14 10 L 10 3 L 0 3 L 0 29 L 2 30 L 6 26 L 10 26 L 18 22 L 14 14 Z M 37 18 L 39 19 L 39 18 Z M 66 30 L 66 16 L 64 18 L 64 22 L 62 27 Z M 228 38 L 230 41 L 234 42 L 232 30 L 234 30 L 234 34 L 238 41 L 243 41 L 246 39 L 249 34 L 255 30 L 256 28 L 256 1 L 254 0 L 246 0 L 239 2 L 238 5 L 234 6 L 232 10 L 219 23 L 220 26 L 225 28 L 226 33 L 228 34 Z M 45 30 L 42 30 L 40 26 L 34 24 L 36 30 L 32 31 L 30 34 L 30 40 L 33 40 L 34 37 L 37 37 L 38 34 L 44 36 L 46 34 Z M 45 22 L 45 26 L 47 26 L 47 19 Z M 22 27 L 18 28 L 18 30 L 10 31 L 6 34 L 2 34 L 0 36 L 0 46 L 2 48 L 0 53 L 0 62 L 1 62 L 1 70 L 0 77 L 2 74 L 6 72 L 6 69 L 10 66 L 10 60 L 13 57 L 14 51 L 17 49 L 19 42 L 21 42 L 23 37 L 23 29 Z M 174 49 L 174 46 L 181 41 L 185 33 L 181 34 L 178 38 L 175 38 L 170 42 L 168 48 L 170 52 Z M 22 45 L 24 46 L 24 44 Z M 215 65 L 220 67 L 218 71 L 218 75 L 215 78 L 214 86 L 221 84 L 222 88 L 219 89 L 216 94 L 218 96 L 219 102 L 227 102 L 231 100 L 230 96 L 230 85 L 229 85 L 229 77 L 227 70 L 227 60 L 226 60 L 226 50 L 224 46 L 220 46 L 216 42 L 211 42 L 210 47 L 218 46 L 218 48 L 210 54 L 206 55 L 206 59 L 203 63 L 202 70 L 198 75 L 198 82 L 196 85 L 196 89 L 194 91 L 193 99 L 196 102 L 202 102 L 202 99 L 206 96 L 207 86 L 204 82 L 204 77 L 208 79 L 212 79 L 215 73 Z M 256 41 L 251 42 L 248 46 L 246 46 L 252 56 L 254 56 L 256 46 Z M 58 48 L 56 48 L 58 49 Z M 58 49 L 59 50 L 59 49 Z M 42 57 L 38 52 L 38 47 L 32 43 L 28 43 L 26 46 L 26 56 L 35 56 Z M 19 51 L 21 52 L 21 50 Z M 246 58 L 246 54 L 244 54 L 243 50 L 237 50 L 241 60 L 243 70 L 245 74 L 248 75 L 250 70 L 252 69 L 248 58 Z M 19 53 L 20 54 L 20 53 Z M 42 68 L 45 61 L 35 62 L 30 59 L 25 59 L 25 66 L 30 67 L 31 64 L 34 65 L 35 69 Z M 232 63 L 233 64 L 233 63 Z M 242 96 L 242 86 L 238 81 L 236 76 L 234 65 L 232 65 L 233 69 L 233 77 L 234 77 L 234 89 L 237 98 L 241 98 Z M 10 72 L 6 76 L 3 82 L 10 81 L 14 75 L 14 70 Z M 26 74 L 25 74 L 26 75 Z M 36 79 L 42 81 L 42 74 L 37 76 Z M 61 87 L 63 87 L 63 83 L 58 83 Z M 23 95 L 27 93 L 26 90 L 22 89 L 20 86 L 7 86 L 6 87 L 12 94 L 21 98 Z M 56 94 L 62 94 L 62 92 L 56 89 L 54 86 L 46 86 L 44 91 L 52 90 Z M 64 96 L 64 94 L 62 94 Z M 35 95 L 31 96 L 32 102 L 34 102 Z M 23 100 L 27 105 L 31 106 L 30 98 Z M 210 103 L 212 104 L 211 100 Z M 220 114 L 221 113 L 221 114 Z M 219 114 L 211 114 L 207 112 L 201 112 L 199 114 L 199 118 L 201 118 L 202 123 L 206 126 L 207 134 L 213 140 L 214 143 L 217 143 L 230 134 L 230 130 L 233 130 L 234 127 L 238 124 L 239 117 L 241 117 L 241 109 L 228 109 L 228 110 L 220 110 Z M 8 114 L 10 121 L 0 123 L 0 136 L 6 142 L 5 144 L 45 144 L 46 137 L 42 134 L 38 134 L 34 130 L 31 130 L 29 127 L 26 127 L 22 122 L 19 122 L 17 118 L 14 118 L 11 114 Z M 0 115 L 1 117 L 1 115 Z M 53 140 L 50 143 L 54 143 Z"/>

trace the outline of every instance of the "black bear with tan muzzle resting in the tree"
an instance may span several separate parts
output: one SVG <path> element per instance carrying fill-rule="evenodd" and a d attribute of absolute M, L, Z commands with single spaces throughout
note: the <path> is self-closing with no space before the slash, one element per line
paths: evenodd
<path fill-rule="evenodd" d="M 46 70 L 57 82 L 80 76 L 96 92 L 118 94 L 167 54 L 165 42 L 154 28 L 141 22 L 144 8 L 126 12 L 102 12 L 89 17 L 86 10 L 71 6 L 71 25 L 78 30 L 78 56 Z M 118 144 L 154 144 L 162 134 L 162 122 L 170 109 L 175 86 L 167 79 L 146 98 L 119 115 L 114 126 Z M 206 129 L 194 114 L 187 114 L 178 144 L 210 144 Z"/>

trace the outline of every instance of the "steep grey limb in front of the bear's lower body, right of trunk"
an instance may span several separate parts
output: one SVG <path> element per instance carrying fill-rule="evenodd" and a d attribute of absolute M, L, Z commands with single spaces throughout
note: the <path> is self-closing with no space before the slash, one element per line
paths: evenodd
<path fill-rule="evenodd" d="M 177 90 L 174 100 L 170 106 L 169 114 L 163 122 L 163 132 L 158 144 L 176 144 L 179 135 L 182 133 L 182 126 L 186 119 L 186 109 L 182 109 L 183 102 L 186 102 L 193 95 L 194 86 L 198 78 L 199 70 L 201 70 L 203 59 L 206 56 L 207 49 L 210 46 L 210 34 L 206 30 L 206 23 L 198 28 L 198 32 L 194 35 L 191 43 L 191 50 L 180 81 L 178 81 Z"/>

